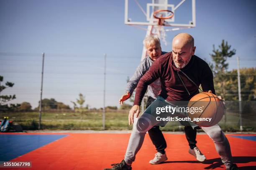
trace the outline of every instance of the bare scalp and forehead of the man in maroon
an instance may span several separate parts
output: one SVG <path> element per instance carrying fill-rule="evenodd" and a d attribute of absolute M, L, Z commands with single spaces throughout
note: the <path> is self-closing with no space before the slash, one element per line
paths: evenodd
<path fill-rule="evenodd" d="M 172 45 L 178 45 L 179 47 L 190 45 L 194 47 L 194 38 L 188 33 L 179 33 L 174 36 Z"/>

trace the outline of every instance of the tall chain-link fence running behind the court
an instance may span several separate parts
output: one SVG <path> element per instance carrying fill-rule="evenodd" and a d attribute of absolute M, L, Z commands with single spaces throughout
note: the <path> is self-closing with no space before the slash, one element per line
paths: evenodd
<path fill-rule="evenodd" d="M 42 55 L 0 53 L 1 85 L 13 82 L 13 87 L 1 90 L 0 95 L 15 95 L 9 102 L 1 102 L 0 117 L 8 116 L 23 129 L 38 129 Z M 214 72 L 217 95 L 227 101 L 256 100 L 256 58 L 228 60 L 229 70 Z M 127 76 L 131 76 L 140 59 L 136 56 L 57 55 L 45 54 L 41 100 L 41 129 L 111 129 L 128 130 L 128 112 L 132 102 L 118 106 L 125 92 Z M 124 64 L 125 63 L 125 64 Z M 104 67 L 106 66 L 105 111 Z M 213 70 L 214 71 L 214 70 Z M 238 80 L 240 79 L 240 90 Z M 146 100 L 145 100 L 146 101 Z M 12 105 L 10 105 L 12 103 Z M 118 106 L 118 107 L 117 107 Z M 144 105 L 145 106 L 145 105 Z M 103 116 L 105 115 L 105 116 Z M 105 117 L 105 119 L 104 119 Z M 224 130 L 240 130 L 239 121 L 233 123 L 232 112 L 226 112 L 220 122 Z M 182 130 L 169 122 L 164 130 Z M 255 131 L 254 126 L 243 130 Z"/>

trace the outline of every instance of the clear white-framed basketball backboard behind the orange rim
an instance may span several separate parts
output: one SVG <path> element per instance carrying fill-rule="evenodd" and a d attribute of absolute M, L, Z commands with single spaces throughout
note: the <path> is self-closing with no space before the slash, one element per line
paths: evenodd
<path fill-rule="evenodd" d="M 156 10 L 170 10 L 174 13 L 172 18 L 164 20 L 164 26 L 193 28 L 196 25 L 195 0 L 125 0 L 124 23 L 158 25 L 158 19 L 152 17 Z"/>

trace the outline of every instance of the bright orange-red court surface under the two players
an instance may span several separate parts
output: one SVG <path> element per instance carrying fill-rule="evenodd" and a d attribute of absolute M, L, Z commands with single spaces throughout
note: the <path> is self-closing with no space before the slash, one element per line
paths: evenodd
<path fill-rule="evenodd" d="M 3 134 L 3 133 L 2 133 Z M 4 133 L 12 134 L 13 133 Z M 25 133 L 28 135 L 38 133 Z M 40 135 L 46 133 L 40 133 Z M 47 133 L 49 135 L 49 133 Z M 31 161 L 32 168 L 2 168 L 3 170 L 103 170 L 110 164 L 123 160 L 130 134 L 106 133 L 58 133 L 67 137 L 33 150 L 12 161 Z M 1 135 L 1 134 L 0 134 Z M 51 133 L 53 135 L 53 133 Z M 227 135 L 234 163 L 240 170 L 256 170 L 256 141 L 234 138 Z M 245 135 L 236 135 L 245 136 Z M 248 136 L 248 135 L 246 135 Z M 253 135 L 255 136 L 255 135 Z M 156 150 L 146 134 L 143 146 L 133 163 L 133 170 L 225 170 L 214 143 L 205 134 L 197 135 L 197 146 L 205 154 L 207 161 L 200 163 L 188 153 L 184 134 L 164 134 L 167 142 L 168 160 L 159 165 L 151 165 Z"/>

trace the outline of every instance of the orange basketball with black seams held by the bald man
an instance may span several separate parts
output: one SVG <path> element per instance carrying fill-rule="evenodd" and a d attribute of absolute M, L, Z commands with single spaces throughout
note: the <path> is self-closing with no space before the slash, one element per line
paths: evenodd
<path fill-rule="evenodd" d="M 222 119 L 224 107 L 222 101 L 210 92 L 193 96 L 188 103 L 189 117 L 199 126 L 213 126 Z"/>

